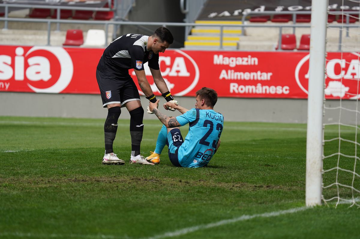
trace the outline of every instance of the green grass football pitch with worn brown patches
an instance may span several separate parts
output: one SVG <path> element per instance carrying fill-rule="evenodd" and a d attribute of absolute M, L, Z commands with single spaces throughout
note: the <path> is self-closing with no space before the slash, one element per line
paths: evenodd
<path fill-rule="evenodd" d="M 225 121 L 209 166 L 186 169 L 171 165 L 167 147 L 159 165 L 102 165 L 103 123 L 0 117 L 0 238 L 359 238 L 356 206 L 330 202 L 281 213 L 305 206 L 305 124 Z M 161 124 L 144 124 L 146 157 Z M 337 134 L 328 128 L 329 137 Z M 342 137 L 354 140 L 351 130 Z M 337 147 L 330 142 L 325 151 Z M 342 144 L 342 153 L 355 150 Z M 129 160 L 129 120 L 119 121 L 114 151 Z M 336 162 L 326 159 L 324 168 Z M 354 159 L 340 166 L 351 169 Z M 335 177 L 330 172 L 324 184 Z M 327 198 L 336 193 L 324 190 Z M 351 190 L 341 193 L 351 197 Z"/>

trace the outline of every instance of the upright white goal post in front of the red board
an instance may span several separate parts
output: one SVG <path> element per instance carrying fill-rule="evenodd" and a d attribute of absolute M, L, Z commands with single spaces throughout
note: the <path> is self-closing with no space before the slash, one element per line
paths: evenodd
<path fill-rule="evenodd" d="M 306 135 L 306 206 L 321 204 L 327 14 L 328 0 L 311 1 Z"/>

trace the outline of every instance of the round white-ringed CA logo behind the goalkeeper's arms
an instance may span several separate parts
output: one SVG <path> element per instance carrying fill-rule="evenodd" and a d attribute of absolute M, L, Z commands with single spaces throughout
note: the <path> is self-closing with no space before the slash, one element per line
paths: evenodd
<path fill-rule="evenodd" d="M 160 93 L 148 67 L 148 63 L 144 64 L 146 78 L 149 81 L 152 91 Z M 159 66 L 161 75 L 173 96 L 184 96 L 189 93 L 197 85 L 199 81 L 199 68 L 196 62 L 185 52 L 180 50 L 166 51 L 159 56 Z M 130 70 L 130 74 L 138 89 L 140 89 L 136 80 L 134 70 Z M 139 90 L 140 95 L 144 93 Z M 161 93 L 160 93 L 161 94 Z"/>

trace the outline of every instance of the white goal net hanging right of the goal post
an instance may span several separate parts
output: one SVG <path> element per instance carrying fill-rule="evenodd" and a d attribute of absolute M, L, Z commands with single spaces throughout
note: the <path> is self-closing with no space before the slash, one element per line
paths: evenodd
<path fill-rule="evenodd" d="M 360 0 L 328 10 L 321 199 L 360 207 Z"/>

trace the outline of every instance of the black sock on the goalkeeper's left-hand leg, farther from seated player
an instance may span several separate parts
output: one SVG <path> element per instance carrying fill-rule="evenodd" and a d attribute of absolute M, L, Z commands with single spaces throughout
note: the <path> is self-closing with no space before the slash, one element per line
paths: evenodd
<path fill-rule="evenodd" d="M 116 106 L 108 109 L 108 116 L 104 124 L 105 154 L 113 153 L 113 142 L 117 131 L 117 120 L 121 114 L 121 107 Z"/>

